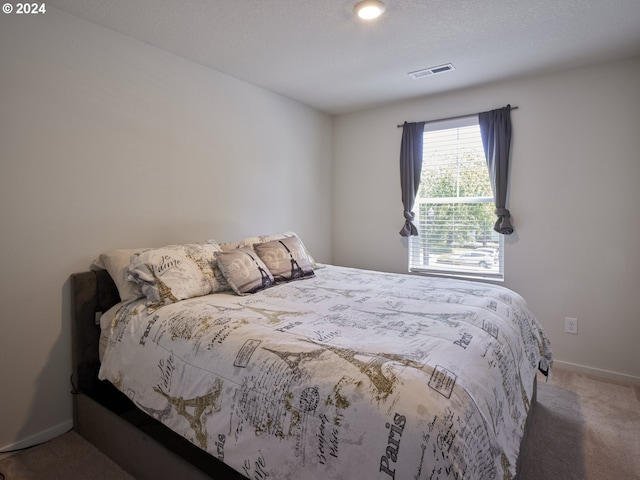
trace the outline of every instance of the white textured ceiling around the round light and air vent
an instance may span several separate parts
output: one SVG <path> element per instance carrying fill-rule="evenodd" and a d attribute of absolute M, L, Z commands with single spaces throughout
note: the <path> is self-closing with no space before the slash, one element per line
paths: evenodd
<path fill-rule="evenodd" d="M 368 23 L 357 0 L 47 5 L 331 114 L 640 54 L 640 0 L 384 1 Z"/>

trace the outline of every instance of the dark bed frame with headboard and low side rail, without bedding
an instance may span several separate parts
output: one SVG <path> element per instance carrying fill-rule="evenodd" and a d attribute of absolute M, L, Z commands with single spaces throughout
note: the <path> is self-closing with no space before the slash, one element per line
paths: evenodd
<path fill-rule="evenodd" d="M 111 383 L 98 379 L 100 326 L 96 319 L 120 302 L 107 271 L 71 275 L 71 292 L 74 429 L 137 480 L 246 480 L 138 409 Z M 527 450 L 535 405 L 536 383 L 520 457 Z M 518 461 L 518 467 L 521 463 Z"/>

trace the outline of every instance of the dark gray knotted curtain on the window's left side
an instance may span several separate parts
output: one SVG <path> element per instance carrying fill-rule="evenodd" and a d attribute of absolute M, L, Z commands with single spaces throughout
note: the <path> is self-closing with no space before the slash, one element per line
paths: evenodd
<path fill-rule="evenodd" d="M 402 126 L 402 143 L 400 144 L 400 188 L 402 189 L 402 206 L 404 207 L 404 226 L 400 235 L 409 237 L 418 235 L 413 224 L 415 214 L 413 203 L 420 187 L 422 173 L 422 135 L 425 122 L 408 123 Z"/>

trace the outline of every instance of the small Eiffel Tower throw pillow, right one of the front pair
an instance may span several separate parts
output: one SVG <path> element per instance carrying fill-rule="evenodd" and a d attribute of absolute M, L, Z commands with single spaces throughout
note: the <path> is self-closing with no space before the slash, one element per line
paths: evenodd
<path fill-rule="evenodd" d="M 257 243 L 253 249 L 267 266 L 276 282 L 313 277 L 309 255 L 298 237 Z"/>

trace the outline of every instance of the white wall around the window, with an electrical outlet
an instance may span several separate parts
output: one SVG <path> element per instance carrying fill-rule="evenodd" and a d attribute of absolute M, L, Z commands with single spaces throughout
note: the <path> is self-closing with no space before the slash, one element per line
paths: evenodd
<path fill-rule="evenodd" d="M 528 300 L 557 360 L 640 381 L 639 85 L 634 58 L 338 117 L 334 263 L 407 269 L 396 125 L 517 105 L 504 284 Z"/>

